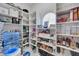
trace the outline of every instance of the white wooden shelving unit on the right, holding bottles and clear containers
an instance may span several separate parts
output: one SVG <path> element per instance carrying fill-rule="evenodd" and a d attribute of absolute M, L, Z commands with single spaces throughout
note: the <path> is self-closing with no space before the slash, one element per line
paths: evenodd
<path fill-rule="evenodd" d="M 64 14 L 66 14 L 66 13 L 68 13 L 68 14 L 70 14 L 70 10 L 71 9 L 68 9 L 68 10 L 61 10 L 61 11 L 57 11 L 57 17 L 60 17 L 60 16 L 62 16 L 62 15 L 64 15 Z M 78 23 L 79 23 L 79 21 L 77 20 L 77 21 L 73 21 L 73 19 L 70 19 L 70 21 L 67 21 L 67 22 L 59 22 L 59 23 L 57 23 L 57 26 L 58 25 L 60 25 L 60 28 L 61 29 L 63 29 L 62 28 L 62 25 L 65 25 L 65 27 L 66 26 L 69 26 L 70 25 L 70 27 L 74 27 L 74 29 L 76 28 L 76 27 L 78 27 Z M 74 24 L 77 24 L 77 26 L 75 26 Z M 57 30 L 61 30 L 61 29 L 57 29 Z M 68 28 L 66 28 L 66 29 L 68 29 Z M 70 31 L 70 30 L 69 30 Z M 73 30 L 74 31 L 74 30 Z M 71 34 L 71 33 L 62 33 L 63 31 L 61 30 L 61 33 L 57 33 L 57 35 L 58 36 L 64 36 L 64 37 L 75 37 L 75 38 L 78 38 L 79 37 L 79 35 L 77 34 Z M 66 49 L 66 50 L 69 50 L 69 51 L 73 51 L 73 52 L 77 52 L 77 53 L 79 53 L 79 49 L 77 49 L 77 48 L 74 48 L 74 49 L 72 49 L 71 47 L 66 47 L 66 46 L 62 46 L 62 45 L 56 45 L 57 47 L 60 47 L 60 48 L 63 48 L 63 49 Z M 62 55 L 62 54 L 61 54 Z M 64 55 L 64 54 L 63 54 Z"/>

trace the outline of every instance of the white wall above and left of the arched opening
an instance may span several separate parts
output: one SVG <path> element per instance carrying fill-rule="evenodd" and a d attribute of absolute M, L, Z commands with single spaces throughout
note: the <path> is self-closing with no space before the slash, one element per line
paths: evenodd
<path fill-rule="evenodd" d="M 55 3 L 37 3 L 31 9 L 31 11 L 36 11 L 37 22 L 38 24 L 42 24 L 42 20 L 45 14 L 47 13 L 55 13 L 56 12 L 56 4 Z"/>

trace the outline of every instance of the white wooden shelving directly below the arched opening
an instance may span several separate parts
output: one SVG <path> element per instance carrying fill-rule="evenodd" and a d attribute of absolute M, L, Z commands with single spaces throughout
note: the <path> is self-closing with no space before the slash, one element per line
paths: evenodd
<path fill-rule="evenodd" d="M 49 33 L 49 34 L 45 34 L 45 33 L 39 33 L 39 30 L 46 30 L 46 29 L 49 29 L 49 30 L 53 30 L 53 29 L 55 29 L 56 30 L 56 25 L 55 24 L 53 24 L 55 27 L 51 27 L 51 28 L 38 28 L 37 27 L 37 43 L 40 43 L 40 44 L 43 44 L 43 45 L 47 45 L 47 46 L 49 46 L 49 47 L 52 47 L 52 49 L 54 49 L 54 47 L 56 48 L 56 46 L 54 46 L 55 45 L 55 43 L 51 43 L 51 42 L 45 42 L 45 41 L 39 41 L 38 40 L 38 38 L 42 38 L 42 39 L 48 39 L 49 41 L 50 40 L 54 40 L 55 42 L 56 42 L 56 32 L 55 33 L 53 33 L 54 34 L 54 36 L 50 36 L 51 35 L 51 33 Z M 39 33 L 39 34 L 38 34 Z M 50 51 L 48 51 L 48 50 L 46 50 L 46 49 L 44 49 L 44 48 L 39 48 L 38 47 L 38 49 L 40 49 L 40 50 L 43 50 L 43 51 L 45 51 L 45 52 L 47 52 L 48 54 L 51 54 L 51 55 L 56 55 L 56 52 L 50 52 Z"/>

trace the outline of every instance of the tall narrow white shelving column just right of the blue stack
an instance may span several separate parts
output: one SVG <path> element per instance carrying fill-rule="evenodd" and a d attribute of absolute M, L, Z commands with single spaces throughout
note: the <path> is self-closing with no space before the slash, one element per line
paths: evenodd
<path fill-rule="evenodd" d="M 24 35 L 26 35 L 26 33 L 27 33 L 27 31 L 29 31 L 29 23 L 27 24 L 27 22 L 29 21 L 29 13 L 25 13 L 25 12 L 23 12 L 23 14 L 22 14 L 24 17 L 23 17 L 23 20 L 22 20 L 22 36 L 24 36 Z M 25 23 L 26 22 L 26 23 Z M 24 29 L 24 30 L 26 30 L 26 33 L 24 34 L 24 31 L 23 31 L 23 26 L 24 27 L 26 27 L 26 29 Z M 28 28 L 28 29 L 27 29 Z M 28 32 L 29 33 L 29 32 Z M 29 46 L 27 46 L 27 45 L 29 45 L 29 34 L 27 34 L 28 36 L 27 37 L 22 37 L 22 42 L 24 41 L 24 40 L 28 40 L 28 42 L 26 42 L 25 44 L 23 44 L 22 43 L 22 46 L 23 47 L 25 47 L 26 46 L 26 48 L 29 48 Z M 25 50 L 26 51 L 26 48 L 23 48 L 22 47 L 22 53 L 24 53 L 23 51 Z"/>

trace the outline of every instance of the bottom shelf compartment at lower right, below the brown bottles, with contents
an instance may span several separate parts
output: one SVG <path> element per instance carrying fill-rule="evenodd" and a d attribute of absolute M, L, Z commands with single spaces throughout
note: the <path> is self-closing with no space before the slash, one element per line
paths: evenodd
<path fill-rule="evenodd" d="M 71 49 L 69 47 L 57 46 L 57 54 L 58 56 L 79 56 L 79 52 L 75 51 L 74 49 Z"/>

